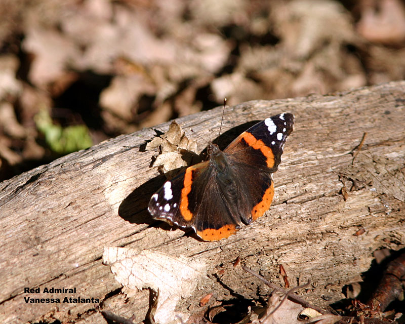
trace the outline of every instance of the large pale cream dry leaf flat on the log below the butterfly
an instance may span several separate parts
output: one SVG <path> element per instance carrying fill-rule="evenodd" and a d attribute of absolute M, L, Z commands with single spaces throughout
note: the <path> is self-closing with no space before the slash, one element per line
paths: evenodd
<path fill-rule="evenodd" d="M 175 311 L 177 303 L 191 295 L 208 265 L 197 258 L 173 257 L 160 252 L 104 248 L 103 263 L 115 279 L 129 289 L 151 288 L 159 292 L 154 320 L 185 322 L 188 314 Z"/>

